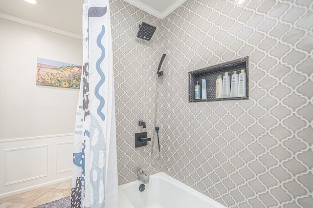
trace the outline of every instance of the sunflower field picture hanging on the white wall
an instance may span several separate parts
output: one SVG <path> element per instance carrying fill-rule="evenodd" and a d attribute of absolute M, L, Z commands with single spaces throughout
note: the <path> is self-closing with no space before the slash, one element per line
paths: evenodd
<path fill-rule="evenodd" d="M 79 89 L 82 66 L 37 58 L 37 85 Z"/>

